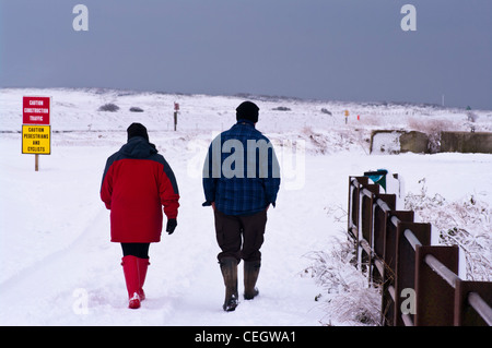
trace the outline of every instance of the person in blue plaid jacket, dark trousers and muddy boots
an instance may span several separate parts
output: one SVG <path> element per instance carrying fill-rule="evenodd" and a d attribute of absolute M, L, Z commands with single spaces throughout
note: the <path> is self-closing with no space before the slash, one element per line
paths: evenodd
<path fill-rule="evenodd" d="M 258 295 L 256 283 L 261 265 L 260 248 L 267 211 L 276 206 L 280 167 L 271 142 L 256 130 L 259 108 L 244 101 L 236 120 L 210 144 L 203 166 L 203 206 L 212 206 L 215 236 L 224 278 L 224 311 L 238 303 L 237 265 L 244 260 L 244 298 Z"/>

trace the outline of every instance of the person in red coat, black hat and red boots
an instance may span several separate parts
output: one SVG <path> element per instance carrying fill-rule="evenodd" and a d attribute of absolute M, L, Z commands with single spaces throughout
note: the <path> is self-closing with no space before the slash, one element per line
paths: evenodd
<path fill-rule="evenodd" d="M 137 309 L 145 299 L 150 243 L 161 241 L 163 211 L 166 232 L 174 232 L 179 191 L 169 165 L 149 142 L 147 128 L 132 123 L 127 133 L 127 144 L 106 161 L 101 199 L 110 209 L 110 240 L 121 243 L 129 308 Z"/>

